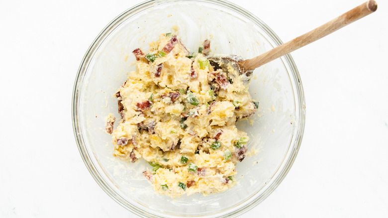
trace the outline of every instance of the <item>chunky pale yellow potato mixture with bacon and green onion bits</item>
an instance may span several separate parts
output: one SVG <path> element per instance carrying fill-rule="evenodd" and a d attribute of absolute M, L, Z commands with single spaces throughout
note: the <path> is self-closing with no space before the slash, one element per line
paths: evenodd
<path fill-rule="evenodd" d="M 159 194 L 208 195 L 236 184 L 249 137 L 235 123 L 258 102 L 248 92 L 250 78 L 231 63 L 210 65 L 209 52 L 209 40 L 190 53 L 177 35 L 161 34 L 148 52 L 133 50 L 136 71 L 115 94 L 121 120 L 111 132 L 109 119 L 106 131 L 113 155 L 148 161 L 143 175 Z"/>

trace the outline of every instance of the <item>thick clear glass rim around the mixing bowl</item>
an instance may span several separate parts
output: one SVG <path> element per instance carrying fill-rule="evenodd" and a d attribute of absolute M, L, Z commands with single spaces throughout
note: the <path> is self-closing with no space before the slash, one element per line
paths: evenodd
<path fill-rule="evenodd" d="M 166 3 L 170 3 L 170 2 L 185 2 L 185 1 L 213 3 L 216 5 L 231 9 L 231 10 L 239 13 L 240 15 L 244 15 L 245 17 L 250 19 L 252 22 L 254 22 L 256 25 L 260 24 L 260 27 L 271 37 L 271 39 L 273 40 L 273 42 L 277 46 L 283 44 L 282 40 L 278 37 L 278 35 L 269 26 L 267 26 L 267 24 L 265 24 L 262 20 L 260 20 L 258 17 L 256 17 L 254 14 L 247 11 L 246 9 L 244 9 L 244 8 L 234 4 L 232 2 L 229 2 L 227 0 L 146 0 L 146 1 L 143 1 L 141 3 L 138 3 L 138 4 L 128 8 L 127 10 L 125 10 L 124 12 L 122 12 L 121 14 L 116 16 L 112 21 L 110 21 L 108 23 L 108 25 L 106 25 L 102 29 L 102 31 L 100 31 L 98 33 L 97 37 L 95 38 L 93 43 L 89 46 L 87 52 L 85 53 L 85 55 L 82 59 L 82 62 L 80 64 L 80 67 L 78 69 L 77 76 L 76 76 L 76 79 L 74 82 L 73 94 L 72 94 L 72 124 L 73 124 L 74 136 L 76 139 L 76 143 L 77 143 L 79 152 L 81 154 L 81 157 L 82 157 L 86 167 L 88 168 L 88 170 L 89 170 L 90 174 L 93 176 L 93 178 L 96 180 L 97 184 L 102 188 L 102 190 L 108 196 L 110 196 L 114 201 L 116 201 L 119 205 L 121 205 L 122 207 L 124 207 L 128 211 L 132 212 L 133 214 L 136 214 L 137 216 L 144 217 L 144 218 L 147 218 L 147 217 L 162 218 L 162 217 L 157 215 L 157 214 L 153 214 L 153 213 L 149 213 L 147 211 L 141 210 L 138 207 L 136 207 L 135 205 L 132 205 L 128 201 L 124 200 L 116 191 L 111 189 L 109 185 L 104 183 L 103 175 L 101 175 L 98 172 L 98 170 L 96 169 L 96 166 L 93 164 L 92 157 L 87 152 L 87 148 L 85 147 L 84 136 L 82 134 L 82 130 L 80 129 L 80 123 L 79 123 L 79 119 L 78 119 L 78 110 L 79 110 L 79 107 L 78 107 L 79 93 L 78 93 L 78 91 L 79 91 L 79 86 L 82 82 L 81 80 L 83 79 L 83 76 L 86 72 L 86 69 L 91 62 L 91 58 L 93 57 L 93 54 L 99 48 L 99 46 L 101 45 L 103 40 L 110 34 L 110 32 L 121 23 L 120 22 L 121 20 L 123 20 L 127 16 L 131 16 L 131 15 L 137 13 L 138 11 L 142 11 L 144 9 L 147 9 L 148 7 L 152 6 L 154 3 L 160 2 L 161 4 L 166 4 Z M 296 137 L 294 140 L 294 144 L 293 145 L 290 144 L 290 147 L 289 147 L 289 150 L 285 156 L 285 159 L 283 160 L 282 164 L 279 167 L 279 169 L 281 169 L 281 170 L 279 171 L 279 169 L 278 169 L 278 171 L 274 174 L 274 176 L 278 173 L 279 173 L 279 175 L 276 176 L 275 180 L 273 180 L 271 184 L 267 185 L 268 188 L 266 188 L 266 190 L 263 193 L 261 193 L 261 195 L 257 196 L 258 193 L 256 193 L 255 195 L 253 195 L 251 197 L 251 199 L 253 199 L 253 200 L 248 202 L 247 204 L 244 204 L 243 206 L 241 206 L 237 209 L 230 208 L 230 209 L 222 211 L 218 214 L 210 214 L 210 215 L 205 215 L 205 216 L 201 216 L 201 217 L 233 218 L 233 217 L 240 216 L 241 214 L 256 207 L 264 199 L 266 199 L 280 185 L 280 183 L 283 181 L 283 179 L 286 177 L 286 175 L 290 171 L 291 166 L 292 166 L 292 164 L 297 156 L 297 153 L 298 153 L 298 150 L 300 148 L 301 141 L 302 141 L 302 137 L 303 137 L 304 125 L 305 125 L 305 99 L 304 99 L 304 92 L 303 92 L 303 87 L 302 87 L 302 83 L 300 80 L 300 76 L 299 76 L 298 70 L 296 68 L 296 65 L 295 65 L 291 55 L 287 54 L 287 55 L 281 57 L 281 59 L 282 59 L 284 64 L 288 64 L 288 66 L 291 70 L 291 72 L 289 72 L 289 74 L 290 73 L 292 74 L 292 78 L 290 78 L 290 79 L 294 80 L 293 82 L 294 82 L 295 87 L 293 87 L 293 88 L 296 88 L 296 90 L 294 90 L 294 93 L 297 94 L 297 95 L 295 95 L 295 97 L 297 97 L 297 99 L 295 99 L 295 100 L 297 100 L 297 102 L 298 102 L 298 104 L 295 103 L 295 107 L 297 105 L 299 105 L 300 108 L 299 108 L 299 114 L 298 114 L 299 125 L 297 127 L 297 130 L 295 131 Z M 292 140 L 291 140 L 291 142 L 292 142 Z M 291 150 L 290 150 L 290 148 L 291 148 Z M 265 188 L 265 187 L 263 187 L 263 188 Z M 166 215 L 164 214 L 164 216 L 166 216 Z M 173 216 L 173 217 L 178 217 L 178 216 Z"/>

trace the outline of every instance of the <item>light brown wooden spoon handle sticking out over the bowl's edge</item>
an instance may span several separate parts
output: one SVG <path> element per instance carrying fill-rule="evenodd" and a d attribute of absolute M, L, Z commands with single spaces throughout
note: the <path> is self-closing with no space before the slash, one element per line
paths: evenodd
<path fill-rule="evenodd" d="M 331 21 L 299 36 L 292 39 L 285 44 L 282 44 L 270 51 L 267 51 L 257 57 L 248 59 L 245 61 L 239 62 L 240 66 L 246 70 L 254 70 L 270 61 L 273 61 L 283 55 L 286 55 L 292 51 L 295 51 L 298 48 L 301 48 L 311 42 L 314 42 L 346 25 L 352 23 L 372 12 L 375 12 L 377 9 L 377 3 L 374 0 L 369 0 L 348 12 L 342 14 L 341 16 L 332 19 Z"/>

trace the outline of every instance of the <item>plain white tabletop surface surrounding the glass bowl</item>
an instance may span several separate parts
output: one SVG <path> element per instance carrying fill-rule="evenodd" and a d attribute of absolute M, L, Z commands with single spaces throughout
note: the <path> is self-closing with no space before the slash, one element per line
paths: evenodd
<path fill-rule="evenodd" d="M 136 218 L 79 154 L 71 98 L 97 34 L 140 0 L 0 1 L 0 217 Z M 284 41 L 363 0 L 232 0 Z M 388 3 L 292 53 L 306 98 L 298 156 L 241 216 L 388 217 Z"/>

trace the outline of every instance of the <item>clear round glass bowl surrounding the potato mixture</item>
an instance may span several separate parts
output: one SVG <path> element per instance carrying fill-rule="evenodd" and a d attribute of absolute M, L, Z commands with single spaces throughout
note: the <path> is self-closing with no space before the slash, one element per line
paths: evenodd
<path fill-rule="evenodd" d="M 159 34 L 179 29 L 195 51 L 211 38 L 211 53 L 257 56 L 282 44 L 256 16 L 223 0 L 145 1 L 117 16 L 92 43 L 79 68 L 73 93 L 73 127 L 82 158 L 100 187 L 117 203 L 141 217 L 236 217 L 262 202 L 286 176 L 303 135 L 305 106 L 291 55 L 254 71 L 250 93 L 257 113 L 238 127 L 251 140 L 237 164 L 238 184 L 230 190 L 171 199 L 156 194 L 143 177 L 145 161 L 125 163 L 112 156 L 105 117 L 117 112 L 118 87 L 134 70 L 135 48 L 147 51 Z M 117 122 L 116 122 L 117 125 Z M 115 125 L 115 126 L 116 126 Z M 148 166 L 149 167 L 149 166 Z"/>

